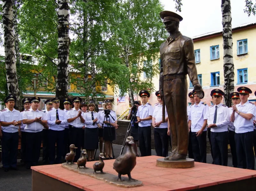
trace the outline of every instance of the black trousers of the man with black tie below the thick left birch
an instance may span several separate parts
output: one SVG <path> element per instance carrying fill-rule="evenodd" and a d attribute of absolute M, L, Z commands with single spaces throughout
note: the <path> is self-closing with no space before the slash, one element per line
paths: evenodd
<path fill-rule="evenodd" d="M 49 129 L 49 164 L 60 164 L 64 150 L 65 130 L 56 131 Z M 57 144 L 57 157 L 55 159 L 55 143 Z"/>

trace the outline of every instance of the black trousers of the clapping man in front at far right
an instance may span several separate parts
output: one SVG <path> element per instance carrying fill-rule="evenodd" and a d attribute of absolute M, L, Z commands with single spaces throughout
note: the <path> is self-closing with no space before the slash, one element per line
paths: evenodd
<path fill-rule="evenodd" d="M 253 131 L 235 133 L 237 167 L 254 170 Z"/>

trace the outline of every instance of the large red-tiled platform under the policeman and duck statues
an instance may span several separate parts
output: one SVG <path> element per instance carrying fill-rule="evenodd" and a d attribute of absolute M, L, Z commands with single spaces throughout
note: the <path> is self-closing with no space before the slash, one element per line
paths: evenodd
<path fill-rule="evenodd" d="M 141 180 L 143 186 L 122 188 L 104 181 L 69 171 L 61 165 L 34 166 L 32 190 L 255 190 L 256 171 L 195 162 L 186 169 L 156 166 L 157 156 L 138 157 L 132 170 L 132 178 Z M 113 169 L 115 160 L 106 160 L 104 172 L 117 174 Z M 95 162 L 86 163 L 92 168 Z"/>

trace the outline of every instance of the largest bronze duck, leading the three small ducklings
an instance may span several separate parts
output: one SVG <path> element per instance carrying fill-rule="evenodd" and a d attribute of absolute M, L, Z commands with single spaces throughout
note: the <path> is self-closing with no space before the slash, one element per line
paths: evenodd
<path fill-rule="evenodd" d="M 116 181 L 124 181 L 124 179 L 121 178 L 121 175 L 124 174 L 128 175 L 129 181 L 137 181 L 131 177 L 131 171 L 136 165 L 136 153 L 132 147 L 133 143 L 133 137 L 128 136 L 125 141 L 126 153 L 117 157 L 113 164 L 113 168 L 118 173 L 118 179 Z"/>

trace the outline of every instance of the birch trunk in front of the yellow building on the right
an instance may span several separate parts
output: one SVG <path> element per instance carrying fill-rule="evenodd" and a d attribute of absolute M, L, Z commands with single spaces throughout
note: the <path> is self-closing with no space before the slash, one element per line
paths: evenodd
<path fill-rule="evenodd" d="M 223 26 L 223 70 L 224 70 L 224 103 L 230 107 L 229 94 L 234 92 L 234 62 L 233 62 L 233 40 L 231 26 L 230 0 L 221 0 L 222 26 Z"/>

